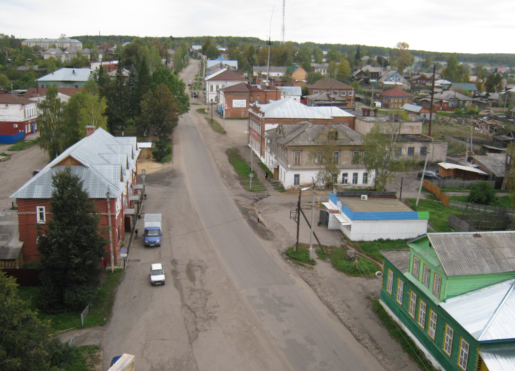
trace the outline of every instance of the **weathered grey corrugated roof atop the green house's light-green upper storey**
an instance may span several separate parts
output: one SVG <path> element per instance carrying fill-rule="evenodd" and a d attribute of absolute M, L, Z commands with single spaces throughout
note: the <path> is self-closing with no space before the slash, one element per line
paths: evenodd
<path fill-rule="evenodd" d="M 447 276 L 515 272 L 515 231 L 427 233 L 427 238 Z"/>

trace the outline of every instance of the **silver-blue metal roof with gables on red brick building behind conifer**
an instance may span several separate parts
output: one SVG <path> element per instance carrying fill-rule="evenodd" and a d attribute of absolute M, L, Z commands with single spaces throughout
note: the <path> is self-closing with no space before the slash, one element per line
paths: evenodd
<path fill-rule="evenodd" d="M 117 198 L 124 192 L 127 179 L 135 171 L 139 153 L 135 137 L 113 137 L 106 130 L 98 128 L 67 148 L 10 198 L 50 198 L 52 175 L 64 170 L 66 166 L 59 163 L 68 157 L 82 164 L 70 167 L 72 173 L 84 181 L 84 189 L 91 198 L 106 197 L 108 187 L 110 197 Z"/>

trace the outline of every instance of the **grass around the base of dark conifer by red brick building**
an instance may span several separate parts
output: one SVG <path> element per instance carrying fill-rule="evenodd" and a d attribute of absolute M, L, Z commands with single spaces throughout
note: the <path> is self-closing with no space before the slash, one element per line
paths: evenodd
<path fill-rule="evenodd" d="M 84 327 L 103 326 L 107 322 L 113 309 L 114 293 L 123 274 L 123 269 L 115 269 L 114 273 L 106 272 L 93 299 L 90 314 L 84 321 Z M 32 311 L 38 309 L 39 291 L 39 287 L 18 287 L 20 298 L 29 302 L 29 309 Z M 38 311 L 38 316 L 40 319 L 50 320 L 54 331 L 80 327 L 80 313 L 46 314 Z"/>

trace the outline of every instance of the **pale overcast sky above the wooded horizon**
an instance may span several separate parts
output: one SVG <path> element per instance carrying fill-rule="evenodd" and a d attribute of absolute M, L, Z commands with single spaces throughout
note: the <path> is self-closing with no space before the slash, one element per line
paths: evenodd
<path fill-rule="evenodd" d="M 273 9 L 273 16 L 272 16 Z M 515 53 L 515 1 L 286 0 L 286 40 L 460 53 Z M 271 31 L 270 17 L 272 17 Z M 0 33 L 281 39 L 281 0 L 0 0 Z"/>

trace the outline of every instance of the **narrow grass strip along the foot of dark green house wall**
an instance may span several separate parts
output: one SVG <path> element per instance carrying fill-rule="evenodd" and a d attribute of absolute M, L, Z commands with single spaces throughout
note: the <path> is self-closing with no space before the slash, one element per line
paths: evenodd
<path fill-rule="evenodd" d="M 431 362 L 425 358 L 424 353 L 417 347 L 415 342 L 409 338 L 408 334 L 393 322 L 393 319 L 391 319 L 388 313 L 386 313 L 378 300 L 372 301 L 372 310 L 377 314 L 377 317 L 379 317 L 383 326 L 386 327 L 390 335 L 399 342 L 408 356 L 417 362 L 421 369 L 436 371 L 436 368 L 434 368 Z"/>

